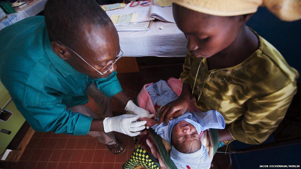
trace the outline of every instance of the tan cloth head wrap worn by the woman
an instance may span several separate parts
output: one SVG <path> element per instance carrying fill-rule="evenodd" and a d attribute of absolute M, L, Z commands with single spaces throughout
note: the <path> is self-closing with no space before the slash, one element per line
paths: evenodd
<path fill-rule="evenodd" d="M 281 20 L 295 21 L 301 18 L 301 0 L 173 0 L 173 3 L 216 16 L 251 14 L 259 6 L 266 6 Z"/>

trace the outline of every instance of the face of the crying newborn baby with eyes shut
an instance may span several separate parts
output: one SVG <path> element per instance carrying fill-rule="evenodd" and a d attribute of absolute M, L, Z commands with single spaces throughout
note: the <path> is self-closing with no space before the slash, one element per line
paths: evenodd
<path fill-rule="evenodd" d="M 182 153 L 193 153 L 201 147 L 201 141 L 196 128 L 186 121 L 180 121 L 174 126 L 171 140 L 172 145 Z"/>

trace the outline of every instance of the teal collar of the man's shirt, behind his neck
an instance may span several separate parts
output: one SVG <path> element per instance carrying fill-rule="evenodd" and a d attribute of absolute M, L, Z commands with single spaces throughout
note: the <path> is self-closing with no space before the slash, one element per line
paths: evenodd
<path fill-rule="evenodd" d="M 64 77 L 70 74 L 74 74 L 74 78 L 76 79 L 79 75 L 82 75 L 80 72 L 76 71 L 71 65 L 65 62 L 64 59 L 60 58 L 58 55 L 56 55 L 56 53 L 54 53 L 51 47 L 51 41 L 48 36 L 47 30 L 45 31 L 44 35 L 44 49 L 52 64 L 56 67 L 57 70 L 60 71 L 61 74 L 63 74 Z"/>

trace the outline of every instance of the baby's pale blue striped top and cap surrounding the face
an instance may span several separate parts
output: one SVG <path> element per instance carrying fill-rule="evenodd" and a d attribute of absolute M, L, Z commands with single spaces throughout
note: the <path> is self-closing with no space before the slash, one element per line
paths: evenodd
<path fill-rule="evenodd" d="M 201 117 L 194 116 L 201 114 Z M 198 134 L 201 131 L 207 130 L 209 128 L 223 129 L 225 128 L 225 121 L 221 114 L 215 110 L 210 110 L 204 113 L 198 113 L 186 111 L 183 115 L 180 115 L 176 119 L 172 119 L 168 122 L 166 126 L 164 123 L 156 124 L 152 127 L 155 132 L 160 135 L 163 139 L 167 140 L 168 143 L 171 143 L 171 133 L 173 127 L 180 121 L 186 121 L 191 123 L 195 128 Z M 204 119 L 203 119 L 204 118 Z M 198 121 L 200 120 L 200 122 Z M 208 121 L 208 123 L 207 123 Z M 210 168 L 211 159 L 209 158 L 208 151 L 206 147 L 202 144 L 201 148 L 194 153 L 181 153 L 175 149 L 174 146 L 171 147 L 171 160 L 175 163 L 177 168 L 185 169 L 187 166 L 190 168 Z"/>

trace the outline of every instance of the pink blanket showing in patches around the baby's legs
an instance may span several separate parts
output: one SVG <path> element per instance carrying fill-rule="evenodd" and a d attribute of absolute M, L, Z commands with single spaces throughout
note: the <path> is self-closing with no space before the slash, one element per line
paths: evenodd
<path fill-rule="evenodd" d="M 150 99 L 150 95 L 146 91 L 146 87 L 148 87 L 149 85 L 152 85 L 152 84 L 154 84 L 154 83 L 149 83 L 142 87 L 140 93 L 137 96 L 137 101 L 138 101 L 138 104 L 140 107 L 142 107 L 143 109 L 156 115 L 155 107 Z M 176 78 L 171 77 L 167 80 L 167 84 L 173 91 L 175 91 L 175 93 L 178 96 L 181 94 L 183 83 L 180 78 L 176 79 Z M 194 105 L 194 102 L 192 100 L 189 101 L 188 110 L 189 111 L 200 111 L 200 109 L 198 109 Z"/>

